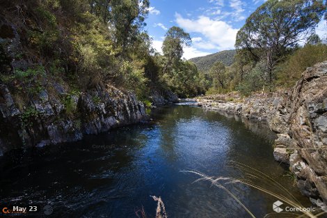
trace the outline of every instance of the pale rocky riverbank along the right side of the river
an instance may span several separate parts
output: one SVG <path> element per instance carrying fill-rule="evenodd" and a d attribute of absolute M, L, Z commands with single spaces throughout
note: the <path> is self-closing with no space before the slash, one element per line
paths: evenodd
<path fill-rule="evenodd" d="M 278 134 L 274 157 L 289 164 L 301 193 L 327 204 L 327 61 L 303 72 L 292 91 L 241 98 L 236 93 L 197 99 L 222 113 L 266 122 Z"/>

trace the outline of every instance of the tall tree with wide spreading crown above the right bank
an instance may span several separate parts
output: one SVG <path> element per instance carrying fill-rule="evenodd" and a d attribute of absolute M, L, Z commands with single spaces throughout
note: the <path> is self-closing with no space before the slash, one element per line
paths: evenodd
<path fill-rule="evenodd" d="M 264 60 L 269 83 L 276 63 L 306 37 L 326 10 L 322 0 L 269 0 L 248 17 L 237 33 L 235 47 Z"/>

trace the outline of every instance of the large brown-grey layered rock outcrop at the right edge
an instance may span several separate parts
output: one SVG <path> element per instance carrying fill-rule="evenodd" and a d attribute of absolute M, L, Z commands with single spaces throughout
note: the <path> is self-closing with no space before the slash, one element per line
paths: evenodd
<path fill-rule="evenodd" d="M 298 187 L 324 203 L 327 203 L 326 99 L 327 62 L 323 62 L 303 72 L 294 87 L 288 102 L 287 122 L 292 138 L 297 141 L 298 159 L 303 162 L 302 173 L 297 176 Z"/>

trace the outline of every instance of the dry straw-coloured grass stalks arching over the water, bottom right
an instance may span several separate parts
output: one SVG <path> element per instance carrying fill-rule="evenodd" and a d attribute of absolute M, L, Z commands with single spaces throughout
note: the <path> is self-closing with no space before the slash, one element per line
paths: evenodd
<path fill-rule="evenodd" d="M 239 162 L 232 162 L 230 167 L 234 167 L 236 169 L 240 169 L 245 176 L 242 178 L 232 178 L 232 177 L 212 177 L 207 176 L 204 173 L 200 173 L 198 171 L 182 171 L 184 173 L 193 173 L 199 176 L 198 180 L 195 182 L 200 181 L 209 181 L 212 183 L 212 185 L 223 189 L 225 192 L 227 192 L 232 198 L 234 198 L 239 205 L 248 212 L 248 215 L 251 217 L 255 217 L 252 212 L 246 206 L 241 203 L 241 201 L 235 196 L 230 190 L 227 188 L 230 184 L 240 183 L 247 185 L 248 187 L 253 187 L 255 189 L 260 190 L 261 192 L 264 192 L 265 194 L 269 194 L 271 196 L 276 197 L 278 200 L 286 203 L 287 205 L 292 206 L 293 208 L 304 208 L 304 206 L 295 198 L 295 196 L 292 195 L 284 186 L 282 186 L 279 182 L 271 178 L 270 176 L 266 175 L 265 173 L 262 173 L 261 171 L 258 171 L 257 169 L 253 169 L 253 167 L 250 167 L 246 164 L 241 164 Z M 324 215 L 325 212 L 317 212 L 317 214 L 313 214 L 312 212 L 303 211 L 302 214 L 296 214 L 292 212 L 281 212 L 278 214 L 278 216 L 282 217 L 285 215 L 285 217 L 319 217 L 321 215 Z M 276 213 L 267 214 L 265 217 L 271 217 L 272 215 L 276 216 Z"/>

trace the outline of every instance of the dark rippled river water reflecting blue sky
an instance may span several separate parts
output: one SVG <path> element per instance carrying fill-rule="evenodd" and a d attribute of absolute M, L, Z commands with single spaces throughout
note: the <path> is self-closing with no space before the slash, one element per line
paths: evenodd
<path fill-rule="evenodd" d="M 152 111 L 153 122 L 130 125 L 83 141 L 15 150 L 0 157 L 0 205 L 51 205 L 35 217 L 155 217 L 161 196 L 170 217 L 250 217 L 208 176 L 243 177 L 239 162 L 266 173 L 310 205 L 273 159 L 275 139 L 267 127 L 189 105 Z M 232 165 L 232 166 L 231 166 Z M 258 180 L 264 185 L 264 180 Z M 273 214 L 278 199 L 239 183 L 227 184 L 256 217 Z M 273 192 L 278 188 L 266 186 Z M 280 191 L 280 190 L 279 190 Z M 277 215 L 277 214 L 276 214 Z"/>

